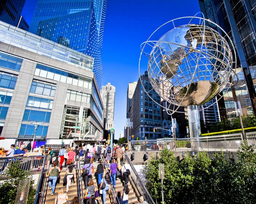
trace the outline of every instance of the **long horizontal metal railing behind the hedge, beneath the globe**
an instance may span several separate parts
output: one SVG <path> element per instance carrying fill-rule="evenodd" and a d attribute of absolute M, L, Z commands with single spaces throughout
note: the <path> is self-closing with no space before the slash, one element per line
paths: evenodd
<path fill-rule="evenodd" d="M 256 132 L 246 134 L 247 144 L 254 144 L 256 147 Z M 226 149 L 236 150 L 241 147 L 243 142 L 242 134 L 232 135 L 218 135 L 199 138 L 177 138 L 176 143 L 174 139 L 158 139 L 158 140 L 138 140 L 129 143 L 130 151 L 156 151 L 166 147 L 167 149 L 174 149 L 176 145 L 177 150 L 186 149 Z"/>

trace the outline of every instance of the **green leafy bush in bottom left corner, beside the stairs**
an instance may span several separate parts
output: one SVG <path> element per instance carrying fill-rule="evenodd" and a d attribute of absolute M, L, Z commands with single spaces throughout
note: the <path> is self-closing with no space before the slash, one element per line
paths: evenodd
<path fill-rule="evenodd" d="M 0 204 L 14 204 L 20 180 L 31 176 L 29 172 L 21 169 L 21 164 L 19 162 L 13 162 L 12 165 L 7 167 L 6 175 L 9 176 L 9 179 L 6 179 L 2 184 L 0 184 Z M 36 194 L 36 190 L 33 186 L 34 183 L 35 181 L 31 179 L 28 201 L 26 204 L 33 204 L 35 201 L 34 196 Z"/>

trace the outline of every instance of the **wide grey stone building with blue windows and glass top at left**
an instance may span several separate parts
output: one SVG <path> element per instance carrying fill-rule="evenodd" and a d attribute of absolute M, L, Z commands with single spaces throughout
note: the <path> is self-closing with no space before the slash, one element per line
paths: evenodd
<path fill-rule="evenodd" d="M 6 139 L 32 141 L 37 124 L 37 141 L 102 136 L 93 57 L 2 21 L 0 99 L 0 135 Z"/>

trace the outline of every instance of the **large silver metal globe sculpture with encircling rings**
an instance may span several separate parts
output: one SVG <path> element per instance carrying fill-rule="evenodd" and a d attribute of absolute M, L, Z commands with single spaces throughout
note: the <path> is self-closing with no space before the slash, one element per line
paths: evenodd
<path fill-rule="evenodd" d="M 142 54 L 145 54 L 153 89 L 163 100 L 174 105 L 173 109 L 166 108 L 170 114 L 179 106 L 201 106 L 211 101 L 224 87 L 232 86 L 233 78 L 237 77 L 233 70 L 236 53 L 230 37 L 220 26 L 202 16 L 171 20 L 160 26 L 141 46 L 139 69 Z M 158 40 L 153 39 L 164 26 L 172 26 L 172 29 Z M 161 35 L 158 33 L 158 36 Z"/>

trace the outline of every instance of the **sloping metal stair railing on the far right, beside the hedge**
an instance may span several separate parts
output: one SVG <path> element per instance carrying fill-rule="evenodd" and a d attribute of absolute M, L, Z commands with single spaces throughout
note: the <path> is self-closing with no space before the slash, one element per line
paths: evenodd
<path fill-rule="evenodd" d="M 131 166 L 131 177 L 134 181 L 134 183 L 136 184 L 137 189 L 140 191 L 140 195 L 143 195 L 144 200 L 147 201 L 149 204 L 155 204 L 153 198 L 151 197 L 151 195 L 148 193 L 147 188 L 145 187 L 143 181 L 140 179 L 140 176 L 138 175 L 137 171 L 135 170 L 133 164 L 131 163 L 130 158 L 128 157 L 128 155 L 126 154 L 126 152 L 124 153 L 125 155 L 125 161 L 128 161 L 128 163 Z M 124 161 L 124 162 L 125 162 Z"/>

